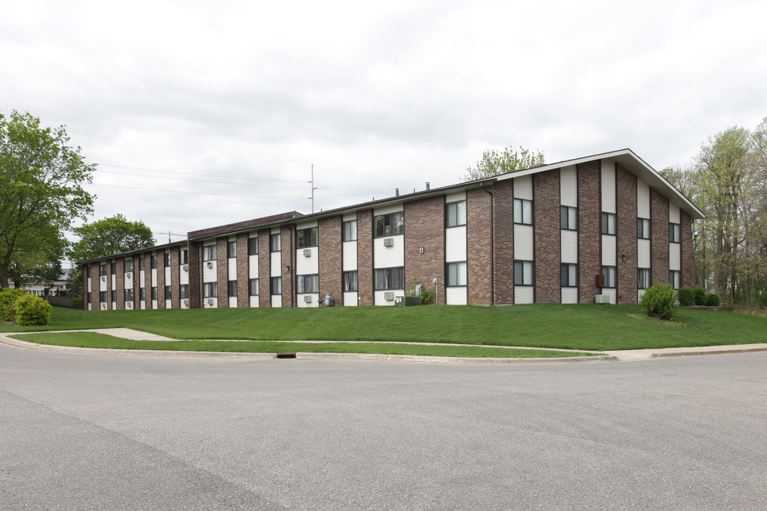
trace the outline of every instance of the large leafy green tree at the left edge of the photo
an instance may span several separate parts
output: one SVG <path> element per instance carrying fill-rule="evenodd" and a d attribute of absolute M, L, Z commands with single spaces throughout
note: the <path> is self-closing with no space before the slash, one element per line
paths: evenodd
<path fill-rule="evenodd" d="M 20 281 L 44 273 L 56 252 L 51 247 L 65 245 L 64 231 L 93 211 L 94 196 L 83 185 L 95 165 L 69 140 L 64 126 L 43 127 L 16 110 L 0 113 L 0 288 L 12 268 Z"/>

